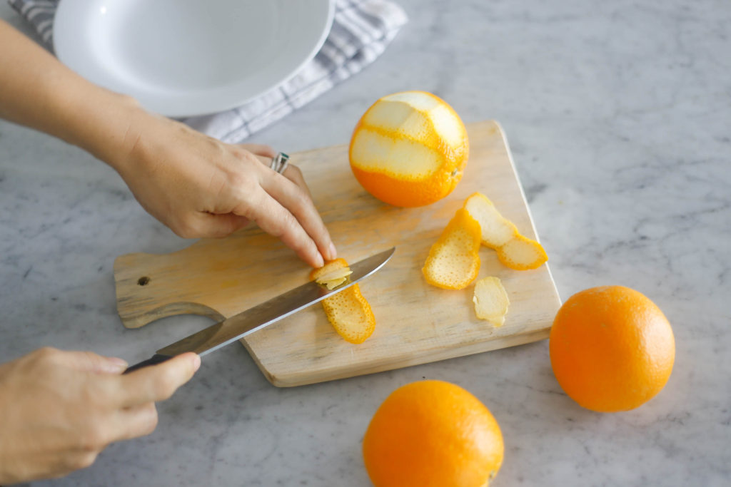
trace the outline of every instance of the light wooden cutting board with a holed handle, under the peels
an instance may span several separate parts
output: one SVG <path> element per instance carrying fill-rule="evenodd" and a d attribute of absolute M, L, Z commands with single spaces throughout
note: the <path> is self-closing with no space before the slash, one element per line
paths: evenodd
<path fill-rule="evenodd" d="M 500 264 L 494 250 L 480 250 L 479 277 L 499 277 L 510 296 L 500 328 L 475 316 L 473 286 L 447 291 L 423 279 L 431 244 L 475 191 L 492 199 L 523 234 L 536 238 L 501 127 L 488 120 L 467 129 L 470 157 L 461 183 L 447 198 L 421 208 L 391 207 L 366 193 L 350 170 L 347 145 L 292 156 L 338 256 L 355 262 L 394 245 L 396 252 L 360 284 L 377 323 L 363 344 L 342 340 L 320 304 L 241 340 L 271 383 L 300 386 L 548 337 L 561 303 L 547 265 L 515 271 Z M 305 283 L 308 272 L 281 242 L 255 227 L 226 239 L 202 239 L 175 253 L 133 253 L 114 263 L 118 312 L 129 328 L 182 313 L 221 320 Z"/>

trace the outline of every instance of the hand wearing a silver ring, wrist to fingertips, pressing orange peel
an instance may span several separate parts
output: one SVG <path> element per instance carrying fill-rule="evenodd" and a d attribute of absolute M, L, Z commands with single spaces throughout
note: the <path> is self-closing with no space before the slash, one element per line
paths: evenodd
<path fill-rule="evenodd" d="M 319 267 L 336 258 L 302 173 L 265 145 L 229 145 L 142 110 L 110 161 L 137 201 L 181 237 L 225 237 L 255 221 Z"/>

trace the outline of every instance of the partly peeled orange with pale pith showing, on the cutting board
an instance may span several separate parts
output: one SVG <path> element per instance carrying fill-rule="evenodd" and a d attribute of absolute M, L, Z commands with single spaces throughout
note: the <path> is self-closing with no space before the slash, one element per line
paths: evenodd
<path fill-rule="evenodd" d="M 355 178 L 382 202 L 431 204 L 451 193 L 469 156 L 457 112 L 431 93 L 403 91 L 377 100 L 350 140 Z"/>

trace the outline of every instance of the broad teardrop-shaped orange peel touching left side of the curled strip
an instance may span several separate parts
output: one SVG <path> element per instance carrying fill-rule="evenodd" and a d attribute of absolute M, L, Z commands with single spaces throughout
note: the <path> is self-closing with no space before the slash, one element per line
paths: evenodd
<path fill-rule="evenodd" d="M 429 250 L 422 269 L 426 282 L 444 289 L 466 288 L 480 271 L 480 223 L 459 209 Z"/>

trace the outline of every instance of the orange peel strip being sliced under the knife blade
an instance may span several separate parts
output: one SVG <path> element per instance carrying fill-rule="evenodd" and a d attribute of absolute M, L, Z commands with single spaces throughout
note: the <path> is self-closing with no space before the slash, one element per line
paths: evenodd
<path fill-rule="evenodd" d="M 321 278 L 330 279 L 326 281 L 327 283 L 333 283 L 339 279 L 345 282 L 346 276 L 350 275 L 349 271 L 348 263 L 342 258 L 336 258 L 319 269 L 313 269 L 310 278 L 317 283 Z M 343 277 L 344 272 L 347 274 Z M 333 280 L 329 277 L 330 275 L 341 275 L 341 277 Z M 327 287 L 330 288 L 330 286 Z M 335 285 L 333 285 L 334 287 Z M 327 315 L 327 321 L 330 321 L 335 331 L 347 342 L 363 343 L 376 329 L 376 317 L 371 310 L 371 305 L 360 293 L 360 287 L 357 284 L 323 299 L 322 307 Z"/>

